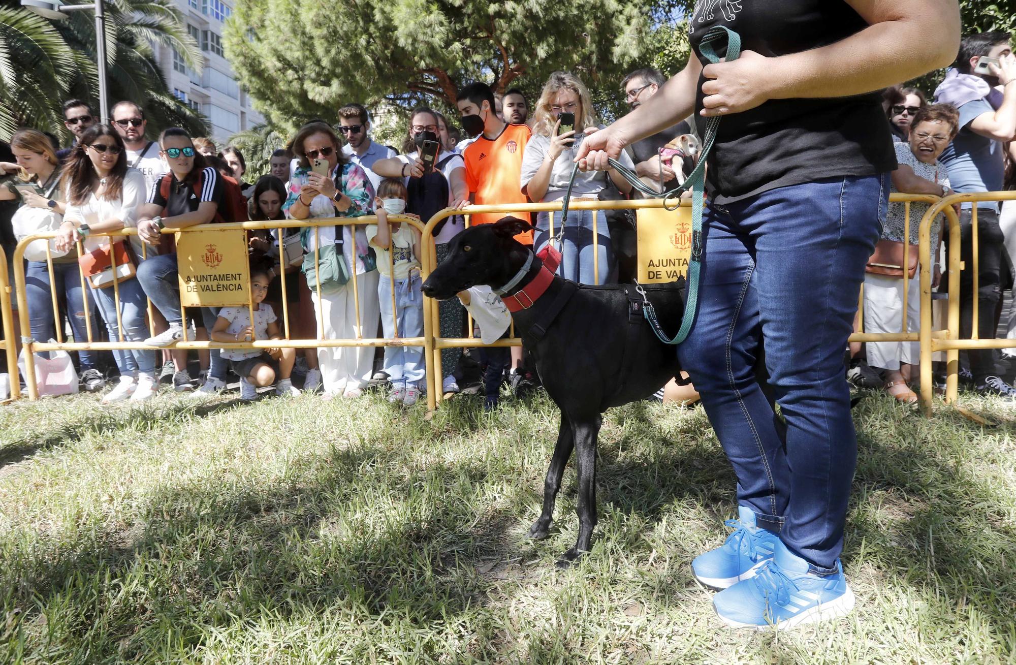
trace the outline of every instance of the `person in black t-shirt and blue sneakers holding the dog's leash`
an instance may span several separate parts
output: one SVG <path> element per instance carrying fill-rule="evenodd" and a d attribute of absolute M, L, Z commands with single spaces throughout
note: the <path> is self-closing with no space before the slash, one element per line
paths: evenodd
<path fill-rule="evenodd" d="M 698 312 L 678 353 L 737 473 L 740 522 L 692 568 L 724 590 L 713 606 L 726 624 L 789 627 L 853 606 L 839 562 L 856 463 L 843 351 L 896 166 L 874 90 L 949 64 L 959 11 L 955 0 L 708 0 L 689 22 L 697 54 L 715 25 L 741 36 L 740 59 L 692 57 L 576 161 L 604 169 L 693 110 L 700 134 L 723 118 Z M 781 418 L 754 371 L 763 346 Z"/>

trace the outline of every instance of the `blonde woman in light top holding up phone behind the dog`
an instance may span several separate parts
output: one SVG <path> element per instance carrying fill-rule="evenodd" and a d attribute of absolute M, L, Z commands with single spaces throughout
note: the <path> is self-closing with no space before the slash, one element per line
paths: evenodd
<path fill-rule="evenodd" d="M 561 129 L 560 116 L 571 113 L 575 126 L 568 131 Z M 536 102 L 533 116 L 532 137 L 525 146 L 522 158 L 522 192 L 534 201 L 556 201 L 564 197 L 575 166 L 575 156 L 582 138 L 598 130 L 592 112 L 589 90 L 575 75 L 556 71 L 544 85 Z M 620 162 L 634 169 L 631 158 L 622 154 Z M 596 200 L 597 194 L 608 186 L 608 177 L 622 193 L 631 191 L 631 185 L 614 169 L 610 171 L 580 171 L 575 176 L 572 200 Z M 613 277 L 614 252 L 607 217 L 599 215 L 596 224 L 596 250 L 598 275 L 593 259 L 592 211 L 570 210 L 565 221 L 561 243 L 561 265 L 558 275 L 580 284 L 606 284 Z M 551 216 L 536 216 L 536 238 L 533 248 L 543 249 L 551 240 Z M 554 218 L 554 235 L 561 229 L 561 216 Z"/>

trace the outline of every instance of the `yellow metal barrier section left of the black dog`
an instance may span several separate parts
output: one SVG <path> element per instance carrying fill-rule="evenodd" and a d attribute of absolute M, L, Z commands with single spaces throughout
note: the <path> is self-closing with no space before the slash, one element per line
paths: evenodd
<path fill-rule="evenodd" d="M 420 221 L 418 221 L 416 219 L 412 219 L 412 218 L 409 218 L 409 217 L 394 216 L 394 215 L 392 215 L 392 216 L 388 217 L 388 220 L 392 224 L 407 223 L 407 224 L 411 224 L 412 226 L 415 226 L 417 229 L 419 229 L 421 231 L 424 230 L 424 225 Z M 243 223 L 229 223 L 229 224 L 199 225 L 199 226 L 188 227 L 186 229 L 177 229 L 177 230 L 165 229 L 163 231 L 163 233 L 164 234 L 172 234 L 172 233 L 191 233 L 191 232 L 196 232 L 196 231 L 227 231 L 227 230 L 231 230 L 231 229 L 244 229 L 244 230 L 249 230 L 249 231 L 263 230 L 263 229 L 267 229 L 267 230 L 279 229 L 279 230 L 281 230 L 281 229 L 306 228 L 306 227 L 320 228 L 320 227 L 329 227 L 329 226 L 367 226 L 367 225 L 376 224 L 376 223 L 377 223 L 377 218 L 374 217 L 374 216 L 358 217 L 358 218 L 320 218 L 320 219 L 313 219 L 313 220 L 278 220 L 278 221 L 272 221 L 272 222 L 243 222 Z M 111 342 L 96 342 L 94 339 L 93 339 L 93 336 L 92 336 L 92 327 L 93 326 L 91 325 L 90 319 L 87 318 L 88 314 L 86 313 L 85 316 L 86 316 L 87 337 L 88 337 L 87 341 L 81 342 L 81 341 L 75 340 L 74 342 L 66 342 L 66 341 L 63 340 L 62 324 L 61 324 L 61 320 L 60 320 L 60 316 L 59 316 L 59 300 L 58 300 L 58 297 L 56 295 L 56 291 L 55 291 L 55 289 L 53 287 L 53 285 L 54 285 L 54 281 L 52 279 L 52 275 L 53 275 L 53 262 L 52 262 L 52 258 L 50 258 L 50 257 L 48 257 L 47 264 L 48 264 L 48 268 L 49 268 L 49 271 L 50 271 L 50 275 L 51 275 L 51 280 L 50 280 L 51 298 L 52 298 L 52 301 L 53 301 L 54 311 L 57 312 L 57 316 L 55 317 L 55 326 L 57 328 L 57 338 L 56 338 L 57 341 L 56 341 L 56 343 L 52 343 L 52 344 L 49 343 L 49 342 L 39 342 L 39 341 L 36 341 L 36 340 L 31 339 L 31 328 L 30 328 L 30 321 L 29 321 L 29 317 L 28 317 L 27 294 L 26 294 L 26 291 L 25 291 L 24 250 L 27 247 L 28 243 L 33 242 L 34 240 L 39 240 L 39 239 L 43 239 L 43 238 L 49 239 L 49 238 L 55 237 L 55 235 L 56 234 L 54 234 L 54 233 L 44 233 L 44 234 L 37 234 L 37 235 L 34 235 L 34 236 L 25 237 L 20 242 L 18 242 L 17 247 L 14 250 L 14 259 L 13 260 L 14 260 L 15 293 L 16 293 L 16 297 L 17 297 L 17 305 L 18 305 L 18 310 L 19 310 L 19 314 L 20 314 L 19 315 L 19 321 L 20 321 L 20 327 L 21 327 L 21 336 L 22 336 L 22 340 L 23 340 L 23 346 L 25 348 L 25 383 L 27 384 L 28 398 L 31 399 L 31 400 L 39 399 L 39 391 L 38 391 L 38 386 L 37 386 L 37 383 L 36 383 L 35 357 L 34 357 L 33 354 L 39 353 L 39 352 L 44 352 L 44 351 L 90 351 L 90 350 L 97 350 L 97 351 L 109 350 L 109 351 L 112 351 L 112 350 L 121 350 L 121 349 L 125 349 L 125 350 L 130 350 L 130 349 L 150 349 L 150 350 L 154 351 L 154 350 L 161 350 L 162 348 L 167 348 L 167 349 L 195 349 L 195 350 L 202 350 L 202 349 L 277 349 L 277 348 L 315 349 L 315 348 L 330 348 L 330 347 L 402 347 L 402 346 L 426 347 L 426 343 L 425 343 L 425 338 L 424 337 L 385 339 L 385 338 L 364 338 L 364 337 L 362 337 L 362 336 L 360 336 L 358 334 L 358 337 L 355 338 L 355 339 L 336 340 L 336 339 L 323 339 L 323 337 L 321 337 L 321 338 L 316 339 L 316 340 L 293 340 L 293 339 L 290 338 L 290 330 L 289 330 L 289 321 L 288 321 L 288 318 L 285 318 L 285 316 L 283 314 L 283 318 L 285 319 L 285 323 L 284 323 L 284 339 L 282 339 L 282 340 L 254 340 L 252 342 L 211 342 L 211 341 L 198 342 L 198 341 L 181 341 L 181 342 L 176 342 L 173 345 L 170 345 L 169 347 L 156 348 L 156 347 L 152 347 L 152 346 L 149 346 L 149 345 L 145 345 L 143 342 L 126 342 L 126 341 L 123 341 L 123 329 L 122 329 L 122 327 L 120 325 L 120 321 L 119 321 L 119 311 L 120 311 L 119 294 L 117 294 L 116 306 L 117 306 L 117 311 L 118 311 L 118 321 L 117 321 L 118 325 L 117 325 L 117 329 L 118 329 L 118 332 L 119 332 L 120 340 L 118 340 L 118 341 L 111 341 Z M 133 235 L 137 235 L 137 230 L 136 229 L 124 229 L 124 230 L 116 232 L 116 233 L 97 234 L 97 235 L 110 236 L 111 238 L 112 237 L 133 236 Z M 281 236 L 282 236 L 282 234 L 279 233 L 279 237 L 281 237 Z M 280 250 L 279 253 L 280 253 L 280 255 L 284 256 L 283 251 Z M 354 251 L 354 253 L 355 253 L 355 251 Z M 391 260 L 391 255 L 392 255 L 392 253 L 389 252 L 388 253 L 389 261 Z M 317 270 L 318 259 L 319 259 L 319 252 L 315 251 L 314 252 L 314 256 L 315 256 L 315 270 Z M 422 265 L 422 270 L 421 271 L 422 271 L 422 274 L 424 276 L 426 276 L 430 271 L 430 263 L 429 263 L 430 256 L 431 256 L 431 254 L 429 252 L 421 251 L 421 265 Z M 359 303 L 358 296 L 356 296 L 357 271 L 356 271 L 356 266 L 355 265 L 350 266 L 350 267 L 351 267 L 351 271 L 353 274 L 352 275 L 352 279 L 350 280 L 350 282 L 354 285 L 354 290 L 355 290 L 357 327 L 360 328 L 360 327 L 362 327 L 361 326 L 361 321 L 360 321 L 360 303 Z M 78 266 L 78 271 L 80 274 L 80 278 L 81 278 L 81 281 L 82 281 L 82 284 L 83 284 L 83 282 L 84 282 L 84 276 L 83 276 L 83 274 L 81 274 L 80 266 Z M 285 276 L 284 276 L 284 269 L 282 270 L 282 274 L 283 274 L 282 277 L 281 277 L 281 280 L 282 280 L 282 303 L 283 303 L 282 306 L 283 306 L 283 312 L 285 314 L 288 314 L 288 312 L 289 312 L 289 309 L 288 309 L 289 305 L 287 304 L 287 300 L 285 300 Z M 389 275 L 390 274 L 391 274 L 391 265 L 389 264 Z M 5 282 L 6 281 L 6 270 L 4 271 L 3 275 L 4 275 L 4 277 L 2 279 Z M 136 278 L 133 278 L 133 279 L 136 279 Z M 0 286 L 3 286 L 3 283 L 0 283 Z M 85 286 L 85 288 L 87 288 L 87 286 Z M 321 312 L 320 312 L 321 293 L 320 293 L 320 285 L 318 286 L 317 291 L 318 291 L 318 305 L 319 305 L 319 311 L 317 312 L 317 319 L 318 319 L 318 329 L 320 330 L 321 329 Z M 392 286 L 392 292 L 393 292 L 393 297 L 394 297 L 394 285 Z M 9 299 L 9 296 L 6 294 L 6 292 L 2 296 L 0 296 L 0 307 L 3 307 L 4 299 Z M 151 303 L 150 303 L 150 301 L 148 302 L 148 308 L 149 308 L 149 321 L 150 321 L 150 318 L 151 318 L 151 315 L 150 315 Z M 87 311 L 88 311 L 88 308 L 85 307 L 85 312 L 87 312 Z M 5 314 L 6 313 L 7 313 L 7 310 L 5 310 Z M 393 316 L 397 316 L 397 313 L 395 311 L 393 311 L 392 315 Z M 8 326 L 12 327 L 12 323 L 10 321 L 11 321 L 10 317 L 5 315 L 4 316 L 4 327 L 5 327 L 5 330 L 6 330 L 6 328 Z M 4 344 L 5 345 L 10 345 L 10 341 L 13 340 L 13 336 L 10 335 L 10 334 L 5 332 L 4 339 L 5 339 Z M 7 352 L 8 352 L 8 357 L 10 357 L 11 354 L 13 353 L 12 346 L 10 346 L 8 348 Z M 16 372 L 16 369 L 15 369 L 15 372 Z M 14 394 L 13 390 L 17 389 L 15 387 L 16 386 L 16 379 L 12 379 L 11 380 L 11 386 L 12 386 L 12 395 L 13 395 Z"/>

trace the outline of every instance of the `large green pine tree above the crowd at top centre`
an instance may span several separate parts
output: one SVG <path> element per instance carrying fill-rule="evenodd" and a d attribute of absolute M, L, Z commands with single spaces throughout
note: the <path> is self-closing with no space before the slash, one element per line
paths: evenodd
<path fill-rule="evenodd" d="M 293 128 L 334 121 L 346 102 L 454 107 L 461 84 L 504 92 L 571 69 L 590 84 L 642 52 L 652 16 L 638 0 L 238 0 L 226 49 L 258 109 Z M 252 27 L 256 26 L 256 27 Z"/>

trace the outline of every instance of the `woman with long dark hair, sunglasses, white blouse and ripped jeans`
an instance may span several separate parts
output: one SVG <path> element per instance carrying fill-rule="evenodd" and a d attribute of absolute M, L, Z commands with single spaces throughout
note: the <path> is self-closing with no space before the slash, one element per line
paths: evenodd
<path fill-rule="evenodd" d="M 85 251 L 109 252 L 117 238 L 96 234 L 136 226 L 138 209 L 145 200 L 144 176 L 127 168 L 124 141 L 109 125 L 92 125 L 81 134 L 64 167 L 64 182 L 67 211 L 57 236 L 57 249 L 70 249 L 81 241 Z M 131 240 L 140 245 L 136 236 Z M 138 255 L 134 253 L 131 261 L 136 263 Z M 117 281 L 116 290 L 112 282 L 97 287 L 92 279 L 85 280 L 110 340 L 142 342 L 148 337 L 144 290 L 133 276 L 113 279 Z M 158 384 L 153 351 L 117 350 L 113 356 L 120 382 L 103 398 L 104 404 L 127 399 L 144 402 L 155 397 Z"/>

